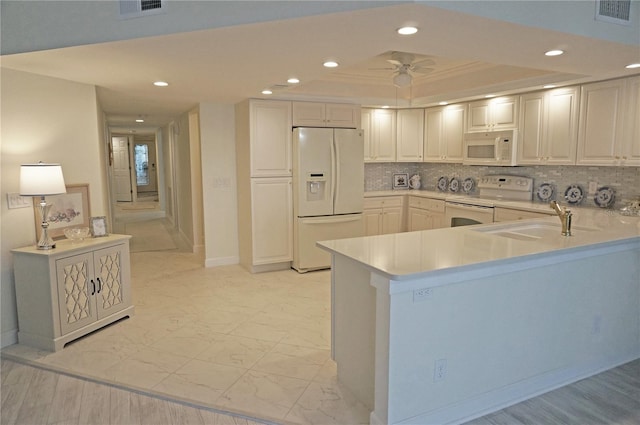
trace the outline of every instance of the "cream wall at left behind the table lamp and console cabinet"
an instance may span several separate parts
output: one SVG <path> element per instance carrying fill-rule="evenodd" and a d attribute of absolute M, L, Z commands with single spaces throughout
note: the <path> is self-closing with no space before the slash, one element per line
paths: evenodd
<path fill-rule="evenodd" d="M 17 335 L 11 249 L 36 243 L 33 208 L 8 209 L 19 191 L 20 164 L 56 162 L 65 182 L 89 183 L 92 216 L 108 215 L 101 160 L 101 125 L 94 86 L 2 69 L 2 223 L 0 311 L 2 346 Z"/>

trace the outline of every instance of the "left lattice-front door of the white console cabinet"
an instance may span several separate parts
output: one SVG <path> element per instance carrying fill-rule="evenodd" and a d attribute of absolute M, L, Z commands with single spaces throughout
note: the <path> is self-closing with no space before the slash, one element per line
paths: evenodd
<path fill-rule="evenodd" d="M 62 334 L 95 322 L 96 281 L 93 254 L 79 254 L 56 261 L 60 328 Z"/>

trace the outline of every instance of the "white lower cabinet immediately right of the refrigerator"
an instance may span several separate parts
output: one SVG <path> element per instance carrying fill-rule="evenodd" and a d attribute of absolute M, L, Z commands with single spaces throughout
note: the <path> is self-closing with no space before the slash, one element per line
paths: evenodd
<path fill-rule="evenodd" d="M 403 232 L 404 197 L 365 198 L 363 216 L 366 236 Z"/>

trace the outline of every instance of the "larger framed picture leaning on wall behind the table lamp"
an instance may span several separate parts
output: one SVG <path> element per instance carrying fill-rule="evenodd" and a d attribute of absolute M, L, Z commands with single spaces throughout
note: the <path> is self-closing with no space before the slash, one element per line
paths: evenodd
<path fill-rule="evenodd" d="M 64 230 L 69 227 L 89 227 L 91 204 L 89 200 L 89 184 L 65 185 L 67 193 L 46 196 L 47 203 L 52 204 L 49 210 L 49 236 L 52 239 L 64 238 Z M 33 214 L 36 226 L 36 236 L 40 239 L 42 233 L 42 217 L 40 217 L 40 197 L 33 197 Z"/>

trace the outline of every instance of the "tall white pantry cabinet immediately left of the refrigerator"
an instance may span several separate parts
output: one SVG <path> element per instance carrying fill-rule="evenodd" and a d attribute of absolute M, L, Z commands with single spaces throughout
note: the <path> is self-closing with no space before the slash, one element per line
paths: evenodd
<path fill-rule="evenodd" d="M 240 264 L 255 273 L 293 260 L 291 102 L 236 105 Z"/>

